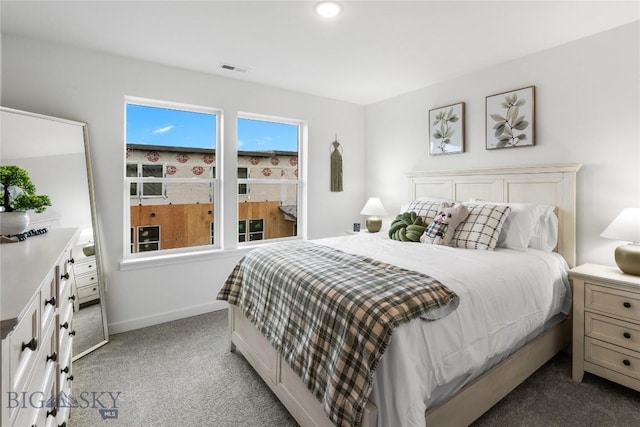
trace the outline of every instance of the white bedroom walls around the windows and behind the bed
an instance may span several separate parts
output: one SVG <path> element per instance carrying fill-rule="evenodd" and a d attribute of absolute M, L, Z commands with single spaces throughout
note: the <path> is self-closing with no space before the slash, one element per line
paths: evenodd
<path fill-rule="evenodd" d="M 238 111 L 308 120 L 310 238 L 339 235 L 362 221 L 358 212 L 370 195 L 381 197 L 387 210 L 399 210 L 406 171 L 581 162 L 578 262 L 613 265 L 617 243 L 599 234 L 623 207 L 640 205 L 638 27 L 636 22 L 366 108 L 3 35 L 2 105 L 89 123 L 109 323 L 119 332 L 220 307 L 215 294 L 240 256 L 120 270 L 125 95 L 222 108 L 231 142 Z M 536 86 L 536 146 L 486 151 L 485 96 L 528 85 Z M 430 157 L 428 110 L 460 101 L 466 103 L 465 153 Z M 343 193 L 328 189 L 335 132 L 344 147 Z"/>

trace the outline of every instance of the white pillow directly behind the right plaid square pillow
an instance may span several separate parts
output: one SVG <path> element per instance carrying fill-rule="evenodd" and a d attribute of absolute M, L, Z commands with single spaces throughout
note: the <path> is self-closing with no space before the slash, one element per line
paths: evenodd
<path fill-rule="evenodd" d="M 553 207 L 535 203 L 504 203 L 484 202 L 471 199 L 473 203 L 506 205 L 511 208 L 509 216 L 505 220 L 500 236 L 498 236 L 498 248 L 525 250 L 529 247 L 536 226 L 542 217 L 547 217 L 547 210 Z"/>

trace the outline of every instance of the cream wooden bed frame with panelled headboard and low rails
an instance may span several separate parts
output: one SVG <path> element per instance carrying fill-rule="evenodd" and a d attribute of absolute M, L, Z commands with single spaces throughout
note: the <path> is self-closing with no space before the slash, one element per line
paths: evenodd
<path fill-rule="evenodd" d="M 580 164 L 408 173 L 409 200 L 420 196 L 451 200 L 533 202 L 556 206 L 557 252 L 576 262 L 576 174 Z M 229 307 L 230 349 L 244 355 L 303 427 L 332 426 L 320 403 L 242 312 Z M 446 401 L 425 414 L 427 426 L 466 426 L 534 373 L 571 341 L 566 319 L 530 341 Z M 377 409 L 367 403 L 362 425 L 377 426 Z"/>

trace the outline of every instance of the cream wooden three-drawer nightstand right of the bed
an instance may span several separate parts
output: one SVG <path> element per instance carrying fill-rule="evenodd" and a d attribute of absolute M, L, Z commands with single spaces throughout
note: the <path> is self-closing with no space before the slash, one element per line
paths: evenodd
<path fill-rule="evenodd" d="M 583 264 L 573 282 L 573 380 L 585 372 L 640 391 L 640 276 Z"/>

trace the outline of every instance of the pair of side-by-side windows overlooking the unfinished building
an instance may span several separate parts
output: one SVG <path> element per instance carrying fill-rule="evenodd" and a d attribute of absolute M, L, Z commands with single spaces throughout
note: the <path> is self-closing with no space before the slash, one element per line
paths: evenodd
<path fill-rule="evenodd" d="M 304 122 L 246 113 L 228 120 L 237 120 L 237 139 L 218 150 L 220 110 L 125 98 L 123 197 L 129 230 L 123 252 L 136 260 L 131 265 L 138 258 L 235 249 L 304 233 L 299 224 Z M 222 158 L 225 152 L 237 159 Z M 234 167 L 223 169 L 225 164 Z M 232 213 L 226 224 L 223 210 Z"/>

